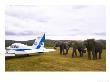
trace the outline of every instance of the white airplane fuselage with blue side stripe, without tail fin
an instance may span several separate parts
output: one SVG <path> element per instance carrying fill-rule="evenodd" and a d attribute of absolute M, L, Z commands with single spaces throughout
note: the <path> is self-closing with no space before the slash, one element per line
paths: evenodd
<path fill-rule="evenodd" d="M 33 46 L 27 46 L 21 43 L 14 43 L 6 48 L 6 53 L 9 54 L 29 54 L 35 52 L 43 52 L 43 48 L 35 49 Z"/>

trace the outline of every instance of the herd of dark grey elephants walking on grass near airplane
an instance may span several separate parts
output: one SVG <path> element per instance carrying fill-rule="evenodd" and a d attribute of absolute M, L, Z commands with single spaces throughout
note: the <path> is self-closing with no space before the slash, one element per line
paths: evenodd
<path fill-rule="evenodd" d="M 99 41 L 94 39 L 87 39 L 85 41 L 79 42 L 59 42 L 56 43 L 55 47 L 60 47 L 60 54 L 68 55 L 69 48 L 72 48 L 72 58 L 77 56 L 77 50 L 79 52 L 80 57 L 83 57 L 84 53 L 88 53 L 88 59 L 97 59 L 97 55 L 99 54 L 98 58 L 101 59 L 102 54 L 102 44 Z"/>

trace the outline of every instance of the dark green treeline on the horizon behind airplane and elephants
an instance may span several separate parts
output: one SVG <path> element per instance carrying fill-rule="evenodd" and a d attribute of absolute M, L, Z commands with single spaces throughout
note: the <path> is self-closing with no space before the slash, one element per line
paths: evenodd
<path fill-rule="evenodd" d="M 56 43 L 62 42 L 62 41 L 65 41 L 65 42 L 68 42 L 71 44 L 74 42 L 78 42 L 80 40 L 49 40 L 49 39 L 47 39 L 47 40 L 45 40 L 45 47 L 55 47 Z M 100 41 L 102 43 L 103 48 L 105 49 L 106 48 L 106 40 L 98 40 L 98 41 Z M 34 43 L 34 40 L 28 40 L 28 41 L 5 40 L 5 47 L 8 47 L 13 43 L 22 43 L 22 44 L 25 44 L 28 46 L 32 46 Z"/>

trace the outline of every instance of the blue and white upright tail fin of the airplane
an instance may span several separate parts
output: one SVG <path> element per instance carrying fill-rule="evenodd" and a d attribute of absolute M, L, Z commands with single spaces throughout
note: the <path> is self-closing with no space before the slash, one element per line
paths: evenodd
<path fill-rule="evenodd" d="M 43 48 L 44 47 L 44 41 L 45 41 L 45 34 L 43 34 L 40 37 L 37 37 L 35 39 L 33 47 L 36 49 Z"/>

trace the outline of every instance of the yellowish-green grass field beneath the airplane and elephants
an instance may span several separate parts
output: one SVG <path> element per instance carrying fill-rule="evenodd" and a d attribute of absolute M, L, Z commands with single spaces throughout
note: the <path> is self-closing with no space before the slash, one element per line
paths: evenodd
<path fill-rule="evenodd" d="M 106 50 L 103 50 L 102 59 L 88 60 L 84 57 L 60 55 L 59 50 L 49 53 L 34 54 L 29 57 L 18 56 L 5 59 L 6 71 L 106 71 Z"/>

